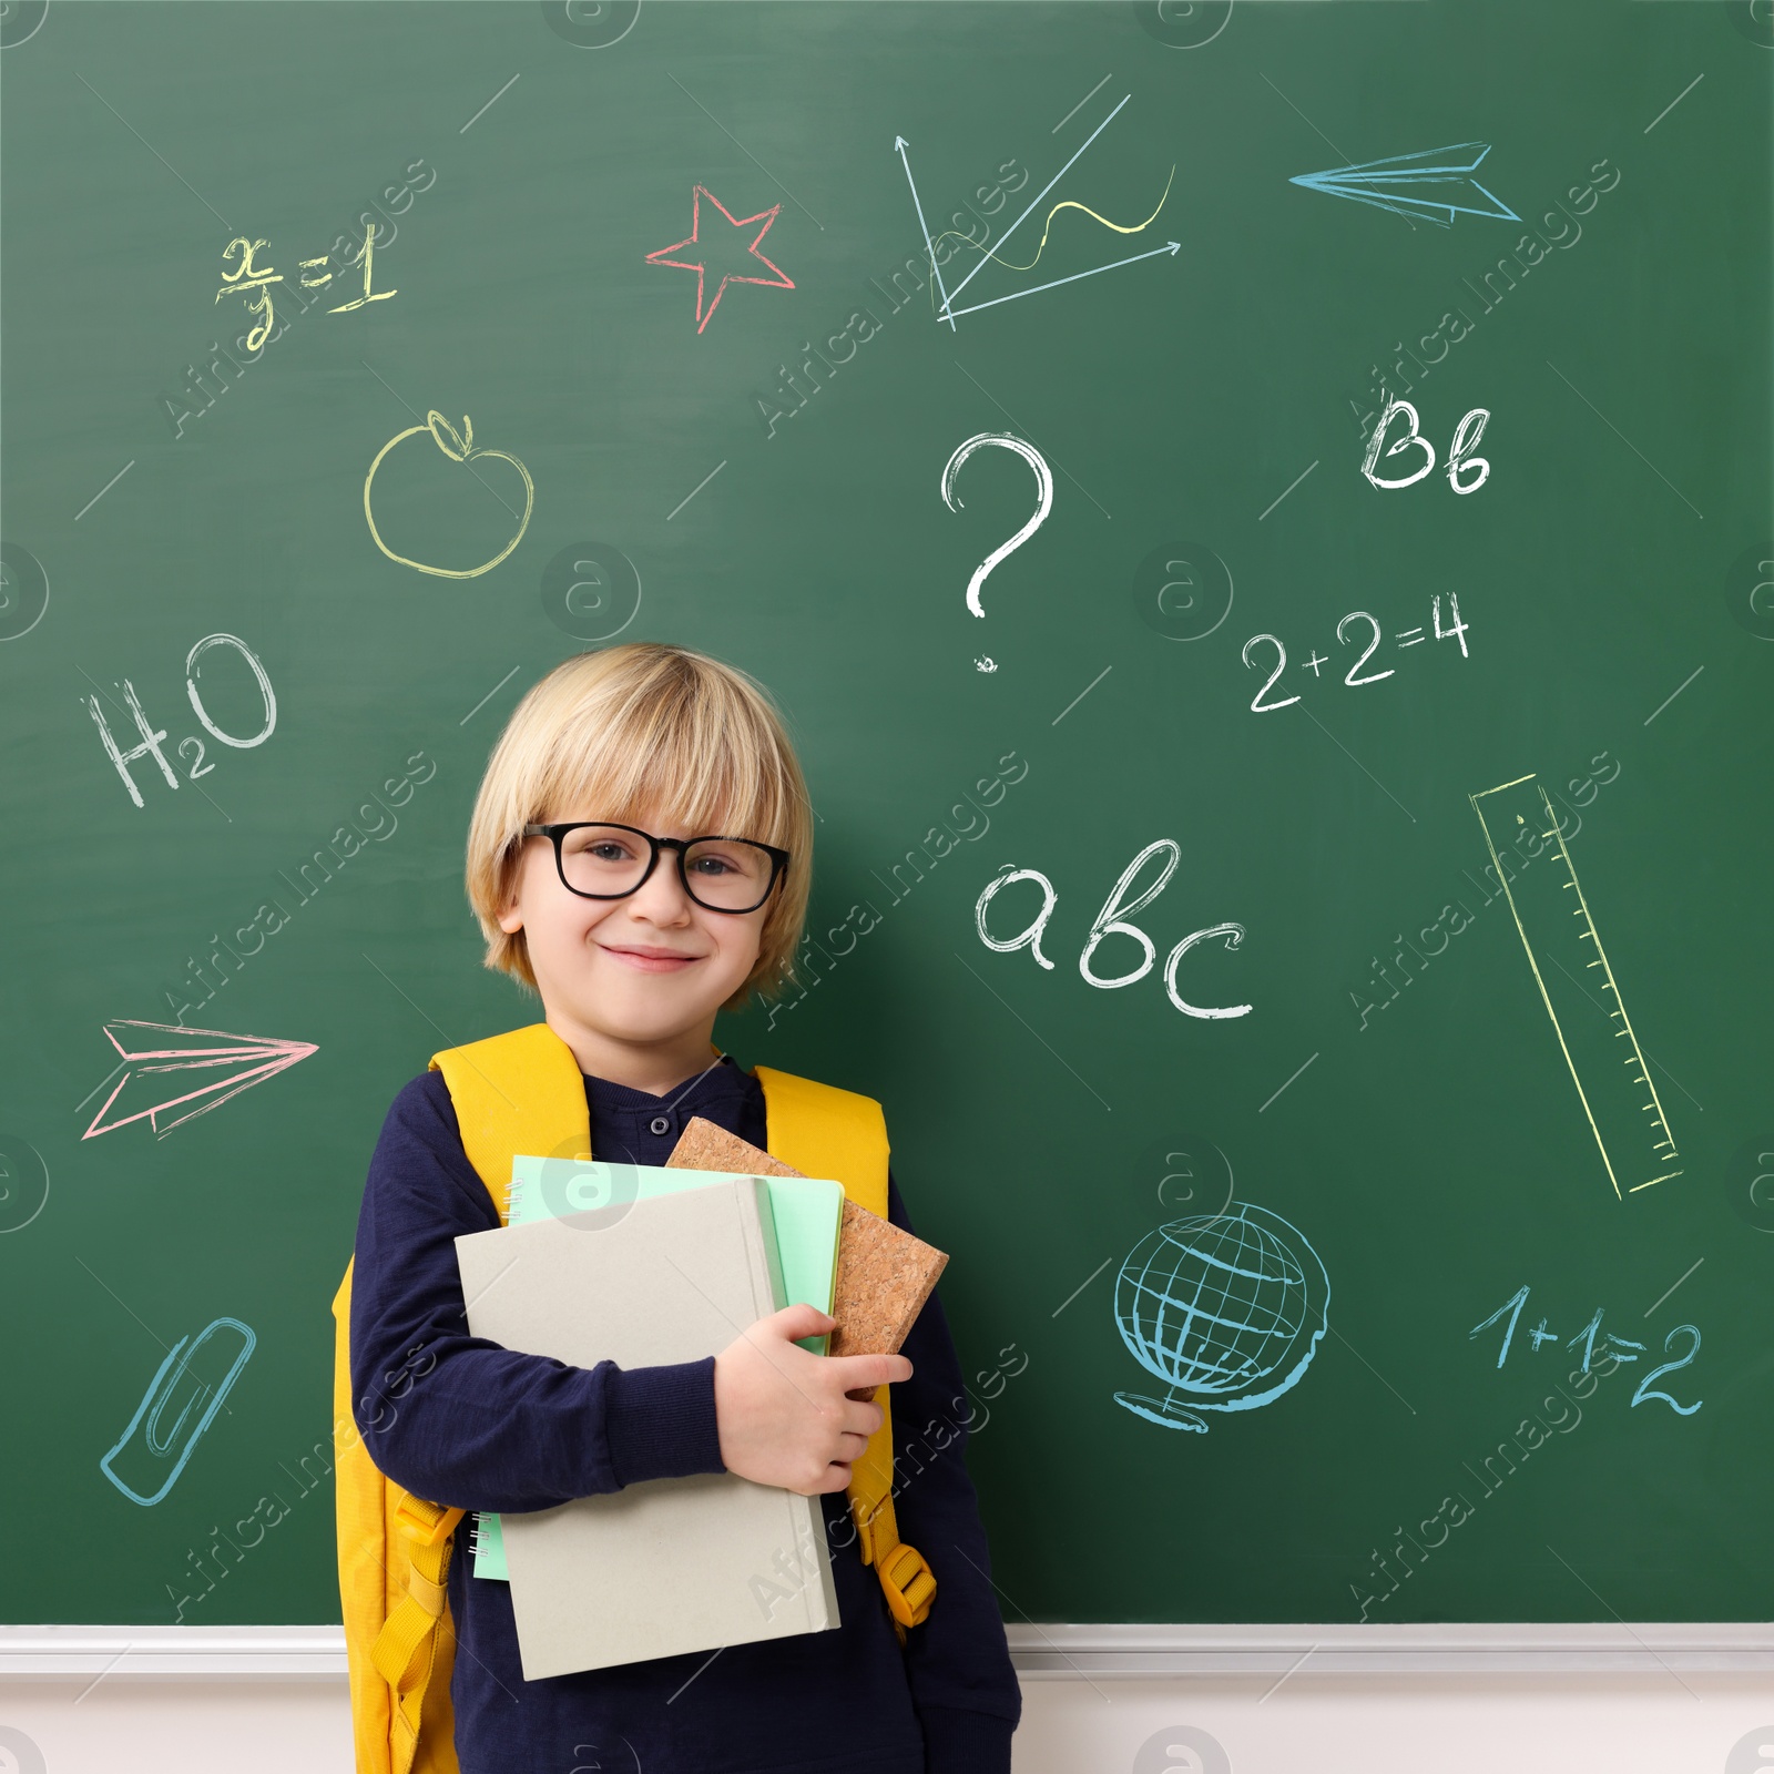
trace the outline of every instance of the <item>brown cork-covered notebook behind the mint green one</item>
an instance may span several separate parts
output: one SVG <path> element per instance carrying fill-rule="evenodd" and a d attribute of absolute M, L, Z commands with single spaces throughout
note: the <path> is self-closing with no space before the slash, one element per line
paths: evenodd
<path fill-rule="evenodd" d="M 701 1116 L 683 1130 L 665 1167 L 750 1176 L 804 1174 Z M 832 1286 L 837 1329 L 827 1354 L 896 1355 L 947 1261 L 947 1254 L 935 1245 L 846 1199 L 837 1238 L 837 1281 Z M 875 1387 L 859 1387 L 850 1396 L 873 1400 Z"/>

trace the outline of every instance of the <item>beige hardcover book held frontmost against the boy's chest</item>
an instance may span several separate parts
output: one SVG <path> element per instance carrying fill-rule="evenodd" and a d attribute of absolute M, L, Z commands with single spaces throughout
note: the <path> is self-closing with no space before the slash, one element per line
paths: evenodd
<path fill-rule="evenodd" d="M 468 1329 L 577 1368 L 717 1355 L 784 1302 L 757 1176 L 468 1233 Z M 504 1517 L 527 1682 L 837 1627 L 818 1497 L 736 1472 Z"/>

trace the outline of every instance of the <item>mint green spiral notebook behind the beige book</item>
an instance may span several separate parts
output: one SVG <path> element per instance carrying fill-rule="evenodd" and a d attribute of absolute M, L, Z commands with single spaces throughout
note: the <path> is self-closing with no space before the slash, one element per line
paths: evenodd
<path fill-rule="evenodd" d="M 648 1196 L 671 1196 L 685 1189 L 706 1189 L 745 1171 L 665 1171 L 644 1164 L 580 1164 L 573 1158 L 532 1158 L 518 1153 L 511 1160 L 511 1224 L 529 1226 L 541 1219 L 593 1210 L 616 1212 L 624 1203 Z M 844 1185 L 816 1176 L 766 1176 L 770 1212 L 775 1215 L 777 1256 L 782 1284 L 791 1306 L 832 1309 L 837 1281 L 837 1235 L 844 1222 Z M 814 1355 L 827 1352 L 827 1336 L 797 1339 Z M 470 1529 L 475 1577 L 507 1582 L 506 1542 L 498 1515 L 481 1510 Z"/>

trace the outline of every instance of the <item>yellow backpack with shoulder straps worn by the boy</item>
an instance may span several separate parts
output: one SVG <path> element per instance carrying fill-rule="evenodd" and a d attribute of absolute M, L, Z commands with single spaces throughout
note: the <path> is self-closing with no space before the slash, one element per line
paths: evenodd
<path fill-rule="evenodd" d="M 573 1050 L 545 1022 L 431 1056 L 444 1073 L 463 1150 L 507 1215 L 513 1153 L 589 1157 L 585 1084 Z M 887 1217 L 887 1123 L 880 1103 L 757 1066 L 770 1153 L 807 1176 L 844 1185 Z M 445 1575 L 461 1510 L 401 1490 L 376 1471 L 351 1412 L 351 1267 L 334 1299 L 334 1467 L 339 1495 L 339 1597 L 351 1666 L 358 1774 L 458 1774 L 449 1696 L 456 1632 Z M 892 1405 L 850 1467 L 850 1510 L 862 1563 L 880 1577 L 894 1632 L 930 1613 L 937 1579 L 899 1540 L 892 1508 Z"/>

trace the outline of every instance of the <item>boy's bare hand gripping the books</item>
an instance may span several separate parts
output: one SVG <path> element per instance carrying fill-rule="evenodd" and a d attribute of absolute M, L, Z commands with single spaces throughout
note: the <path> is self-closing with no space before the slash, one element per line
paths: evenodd
<path fill-rule="evenodd" d="M 844 1394 L 910 1380 L 905 1355 L 812 1355 L 795 1338 L 837 1320 L 814 1306 L 759 1318 L 715 1357 L 715 1416 L 729 1472 L 802 1497 L 843 1490 L 850 1462 L 882 1426 L 882 1407 Z"/>

